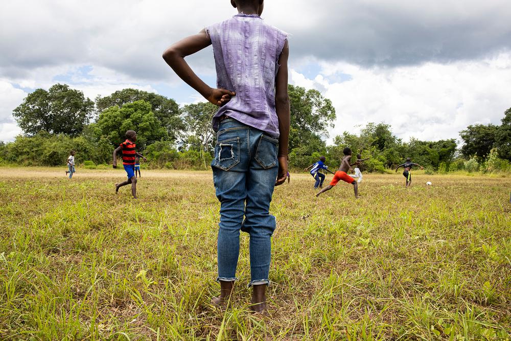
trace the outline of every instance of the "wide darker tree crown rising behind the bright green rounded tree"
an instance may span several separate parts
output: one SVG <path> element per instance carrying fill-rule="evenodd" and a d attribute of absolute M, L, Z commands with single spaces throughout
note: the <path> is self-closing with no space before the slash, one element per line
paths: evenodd
<path fill-rule="evenodd" d="M 117 105 L 120 108 L 127 103 L 144 100 L 151 104 L 151 110 L 160 124 L 167 131 L 169 138 L 175 140 L 179 130 L 183 129 L 183 122 L 179 117 L 179 106 L 173 99 L 168 99 L 154 93 L 126 88 L 114 92 L 110 96 L 96 97 L 96 108 L 99 112 Z"/>

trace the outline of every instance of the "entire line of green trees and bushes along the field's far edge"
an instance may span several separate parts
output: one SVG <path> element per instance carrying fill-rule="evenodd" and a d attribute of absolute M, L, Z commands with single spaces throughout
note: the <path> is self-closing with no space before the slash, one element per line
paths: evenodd
<path fill-rule="evenodd" d="M 336 167 L 346 146 L 370 156 L 367 171 L 385 172 L 412 157 L 430 171 L 509 170 L 511 108 L 501 126 L 469 126 L 460 132 L 463 147 L 454 139 L 403 143 L 385 123 L 369 123 L 359 134 L 344 132 L 327 145 L 336 119 L 332 102 L 317 90 L 289 85 L 291 104 L 290 168 L 303 169 L 318 157 Z M 111 163 L 113 149 L 126 130 L 137 132 L 138 151 L 150 168 L 208 169 L 216 134 L 211 117 L 217 107 L 201 102 L 179 106 L 173 99 L 136 89 L 123 89 L 95 101 L 66 84 L 37 89 L 13 111 L 24 131 L 14 142 L 0 142 L 0 163 L 64 165 L 70 150 L 87 168 Z M 489 131 L 493 138 L 489 138 Z M 490 135 L 491 135 L 490 134 Z"/>

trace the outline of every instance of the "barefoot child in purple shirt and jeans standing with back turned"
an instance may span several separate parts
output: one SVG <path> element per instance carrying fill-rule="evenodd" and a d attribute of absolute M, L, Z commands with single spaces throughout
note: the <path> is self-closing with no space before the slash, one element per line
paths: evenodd
<path fill-rule="evenodd" d="M 275 230 L 270 201 L 274 186 L 286 180 L 288 167 L 289 47 L 287 34 L 261 19 L 264 0 L 230 3 L 237 15 L 176 42 L 163 58 L 183 81 L 220 106 L 212 122 L 217 131 L 212 168 L 220 201 L 220 296 L 212 303 L 225 306 L 233 291 L 244 231 L 250 235 L 252 310 L 267 313 L 265 292 Z M 210 45 L 217 88 L 206 85 L 184 60 Z"/>

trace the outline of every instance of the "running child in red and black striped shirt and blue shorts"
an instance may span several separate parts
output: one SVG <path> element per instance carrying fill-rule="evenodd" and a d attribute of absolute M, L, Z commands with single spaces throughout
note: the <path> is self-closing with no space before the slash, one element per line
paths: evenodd
<path fill-rule="evenodd" d="M 123 152 L 123 167 L 128 174 L 128 179 L 122 183 L 115 184 L 115 193 L 119 192 L 119 188 L 131 184 L 131 194 L 136 199 L 136 176 L 135 176 L 135 157 L 139 156 L 147 161 L 144 155 L 135 151 L 136 132 L 134 130 L 126 131 L 126 141 L 121 143 L 119 147 L 113 151 L 113 168 L 117 168 L 117 153 Z"/>

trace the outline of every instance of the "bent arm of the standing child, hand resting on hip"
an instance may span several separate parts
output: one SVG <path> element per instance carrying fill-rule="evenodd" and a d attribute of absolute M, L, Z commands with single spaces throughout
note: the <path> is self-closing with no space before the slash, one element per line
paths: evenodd
<path fill-rule="evenodd" d="M 211 45 L 211 38 L 203 29 L 198 34 L 191 35 L 172 44 L 163 53 L 163 59 L 185 83 L 193 87 L 199 94 L 215 105 L 224 105 L 236 94 L 226 89 L 216 89 L 208 86 L 191 69 L 184 57 L 190 56 Z"/>

